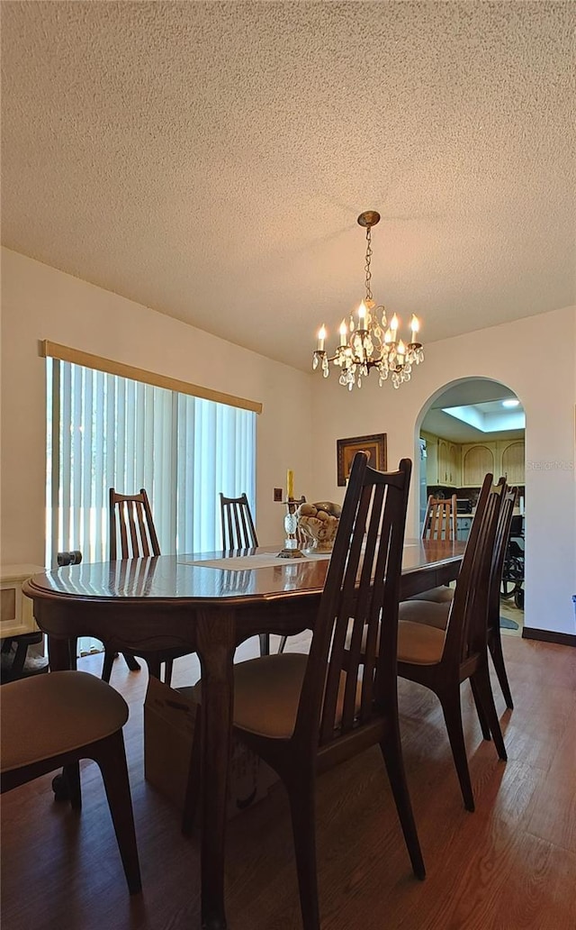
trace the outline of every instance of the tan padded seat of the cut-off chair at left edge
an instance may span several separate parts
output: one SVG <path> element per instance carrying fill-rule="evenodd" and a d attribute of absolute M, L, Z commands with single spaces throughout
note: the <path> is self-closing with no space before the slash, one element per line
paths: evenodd
<path fill-rule="evenodd" d="M 127 719 L 124 697 L 85 671 L 7 682 L 0 691 L 0 771 L 88 746 L 120 730 Z"/>

